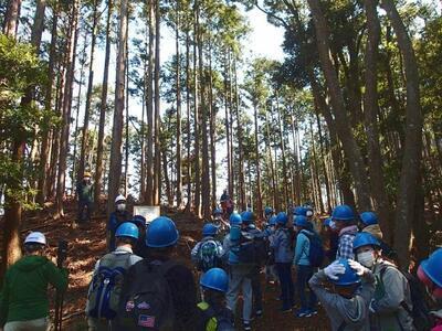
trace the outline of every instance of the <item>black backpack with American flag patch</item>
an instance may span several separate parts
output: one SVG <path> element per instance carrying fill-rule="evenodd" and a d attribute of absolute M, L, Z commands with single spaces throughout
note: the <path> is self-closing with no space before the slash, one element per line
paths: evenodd
<path fill-rule="evenodd" d="M 175 330 L 175 307 L 165 278 L 175 266 L 172 260 L 140 260 L 130 267 L 118 306 L 122 330 Z"/>

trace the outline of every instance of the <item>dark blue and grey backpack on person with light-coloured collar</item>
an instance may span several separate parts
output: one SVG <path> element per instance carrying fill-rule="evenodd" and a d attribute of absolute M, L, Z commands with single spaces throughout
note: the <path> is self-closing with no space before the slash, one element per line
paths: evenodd
<path fill-rule="evenodd" d="M 131 254 L 106 254 L 92 279 L 88 295 L 87 314 L 96 319 L 113 320 L 118 310 L 118 301 Z"/>

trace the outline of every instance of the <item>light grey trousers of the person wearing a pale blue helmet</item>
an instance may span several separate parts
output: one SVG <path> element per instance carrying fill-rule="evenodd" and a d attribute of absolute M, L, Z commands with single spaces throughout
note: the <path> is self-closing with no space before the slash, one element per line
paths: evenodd
<path fill-rule="evenodd" d="M 243 309 L 242 319 L 244 322 L 250 322 L 252 317 L 252 279 L 250 277 L 250 268 L 243 266 L 231 266 L 229 273 L 229 290 L 225 295 L 228 307 L 235 313 L 238 297 L 242 290 Z"/>

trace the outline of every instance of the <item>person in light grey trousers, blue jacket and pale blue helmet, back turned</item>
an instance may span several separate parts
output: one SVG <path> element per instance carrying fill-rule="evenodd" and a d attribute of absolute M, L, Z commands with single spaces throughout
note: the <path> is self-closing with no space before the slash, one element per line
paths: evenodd
<path fill-rule="evenodd" d="M 239 258 L 239 250 L 245 243 L 251 239 L 251 235 L 246 233 L 246 225 L 243 223 L 242 217 L 238 213 L 230 215 L 230 233 L 224 237 L 222 248 L 224 250 L 224 257 L 229 265 L 229 289 L 225 295 L 228 307 L 235 312 L 236 301 L 242 292 L 243 297 L 243 330 L 251 330 L 252 320 L 252 275 L 255 268 L 254 263 L 242 261 Z"/>

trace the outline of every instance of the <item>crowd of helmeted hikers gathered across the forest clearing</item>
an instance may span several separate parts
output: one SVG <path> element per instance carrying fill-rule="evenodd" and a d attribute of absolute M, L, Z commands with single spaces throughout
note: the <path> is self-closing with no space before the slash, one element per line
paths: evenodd
<path fill-rule="evenodd" d="M 252 330 L 265 314 L 264 282 L 278 287 L 282 318 L 308 319 L 322 306 L 332 330 L 442 330 L 442 248 L 418 265 L 414 277 L 398 268 L 373 212 L 357 215 L 338 205 L 319 222 L 309 206 L 290 213 L 265 207 L 257 220 L 231 206 L 223 204 L 204 223 L 191 268 L 175 257 L 175 222 L 159 216 L 147 224 L 118 195 L 107 224 L 108 253 L 88 287 L 88 330 Z M 24 257 L 8 269 L 0 330 L 49 329 L 46 289 L 64 291 L 67 270 L 45 256 L 45 246 L 43 234 L 31 233 Z"/>

